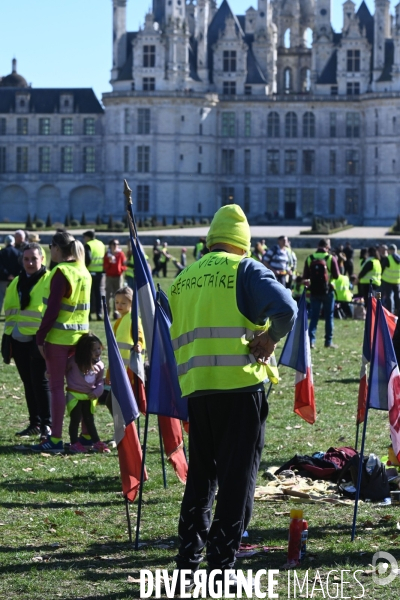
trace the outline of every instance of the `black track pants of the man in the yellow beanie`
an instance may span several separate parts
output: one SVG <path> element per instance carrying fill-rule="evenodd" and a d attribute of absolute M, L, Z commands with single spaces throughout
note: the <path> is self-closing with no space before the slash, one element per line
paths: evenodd
<path fill-rule="evenodd" d="M 268 404 L 264 392 L 189 398 L 189 472 L 179 519 L 179 569 L 230 569 L 253 509 Z M 214 519 L 211 509 L 218 487 Z"/>

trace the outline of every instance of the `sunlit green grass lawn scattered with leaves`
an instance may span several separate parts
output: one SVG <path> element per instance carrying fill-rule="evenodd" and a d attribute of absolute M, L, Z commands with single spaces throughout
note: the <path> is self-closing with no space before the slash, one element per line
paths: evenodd
<path fill-rule="evenodd" d="M 176 250 L 176 251 L 175 251 Z M 172 252 L 178 257 L 179 249 Z M 190 249 L 188 249 L 190 254 Z M 299 253 L 300 255 L 300 253 Z M 299 256 L 300 263 L 304 257 Z M 169 266 L 171 275 L 174 273 Z M 170 278 L 161 279 L 166 289 Z M 323 347 L 319 325 L 313 369 L 318 419 L 314 426 L 293 413 L 294 373 L 281 368 L 281 383 L 270 395 L 265 448 L 259 473 L 279 466 L 294 454 L 326 451 L 329 446 L 354 445 L 355 411 L 360 368 L 363 323 L 336 321 L 337 350 Z M 93 330 L 104 339 L 101 323 Z M 278 349 L 279 356 L 280 349 Z M 158 432 L 150 420 L 148 472 L 145 484 L 141 541 L 135 552 L 128 543 L 125 508 L 121 496 L 118 458 L 111 455 L 32 455 L 14 450 L 14 433 L 26 424 L 26 406 L 15 366 L 0 365 L 0 598 L 4 600 L 120 600 L 139 598 L 139 570 L 174 568 L 177 551 L 177 523 L 183 486 L 168 465 L 168 488 L 163 489 Z M 387 414 L 371 411 L 367 451 L 386 454 L 389 441 Z M 143 421 L 143 419 L 142 419 Z M 98 407 L 96 422 L 102 439 L 112 438 L 111 418 Z M 300 426 L 300 428 L 295 428 Z M 64 440 L 67 441 L 67 421 Z M 33 440 L 32 440 L 33 441 Z M 206 440 L 205 440 L 206 443 Z M 287 545 L 287 512 L 294 502 L 256 502 L 246 542 L 264 546 Z M 296 504 L 297 506 L 297 504 Z M 330 576 L 331 597 L 364 597 L 394 600 L 399 597 L 397 581 L 384 587 L 370 575 L 358 573 L 364 592 L 352 578 L 355 569 L 369 571 L 373 554 L 391 552 L 400 560 L 398 508 L 361 504 L 357 538 L 350 542 L 353 515 L 351 506 L 303 505 L 309 522 L 309 555 L 299 579 L 309 569 L 309 595 L 297 590 L 297 597 L 329 597 L 312 582 L 319 571 L 326 582 Z M 132 507 L 136 514 L 136 503 Z M 287 574 L 282 569 L 285 550 L 276 550 L 252 559 L 240 560 L 242 569 L 280 569 L 279 598 L 289 596 Z M 343 593 L 340 570 L 348 569 Z M 334 575 L 338 579 L 334 579 Z M 335 585 L 339 593 L 335 596 Z M 303 595 L 301 595 L 303 594 Z"/>

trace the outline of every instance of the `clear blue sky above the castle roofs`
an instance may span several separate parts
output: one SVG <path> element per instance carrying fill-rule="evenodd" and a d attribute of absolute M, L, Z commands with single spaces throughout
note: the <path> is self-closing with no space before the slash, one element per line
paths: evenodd
<path fill-rule="evenodd" d="M 356 6 L 360 0 L 354 0 Z M 392 12 L 398 0 L 391 0 Z M 236 14 L 257 0 L 228 0 Z M 218 5 L 221 0 L 218 0 Z M 366 0 L 371 12 L 374 0 Z M 342 0 L 331 0 L 332 24 L 342 27 Z M 143 24 L 151 0 L 128 0 L 127 27 Z M 33 87 L 91 87 L 99 98 L 111 91 L 111 0 L 0 0 L 0 75 L 11 60 Z"/>

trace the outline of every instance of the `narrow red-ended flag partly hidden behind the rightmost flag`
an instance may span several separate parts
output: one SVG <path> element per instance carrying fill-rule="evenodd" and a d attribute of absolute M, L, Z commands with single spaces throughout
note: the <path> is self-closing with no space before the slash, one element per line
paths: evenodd
<path fill-rule="evenodd" d="M 372 340 L 375 331 L 376 304 L 376 298 L 372 296 L 372 286 L 370 286 L 367 304 L 367 316 L 365 319 L 364 328 L 364 342 L 360 370 L 360 385 L 358 388 L 357 424 L 363 423 L 365 418 L 365 407 L 368 396 L 367 365 L 371 362 Z M 388 311 L 386 308 L 383 308 L 383 306 L 381 306 L 381 309 L 385 314 L 390 335 L 391 337 L 393 337 L 394 330 L 396 329 L 397 317 L 393 315 L 390 311 Z"/>

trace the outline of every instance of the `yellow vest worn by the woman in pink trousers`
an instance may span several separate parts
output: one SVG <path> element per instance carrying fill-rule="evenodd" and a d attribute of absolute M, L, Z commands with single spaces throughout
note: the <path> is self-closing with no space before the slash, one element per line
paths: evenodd
<path fill-rule="evenodd" d="M 51 280 L 57 269 L 68 279 L 72 293 L 63 298 L 58 317 L 46 336 L 46 342 L 75 346 L 83 333 L 89 331 L 90 288 L 92 278 L 81 262 L 59 263 L 50 272 L 45 286 L 43 303 L 47 305 Z"/>

